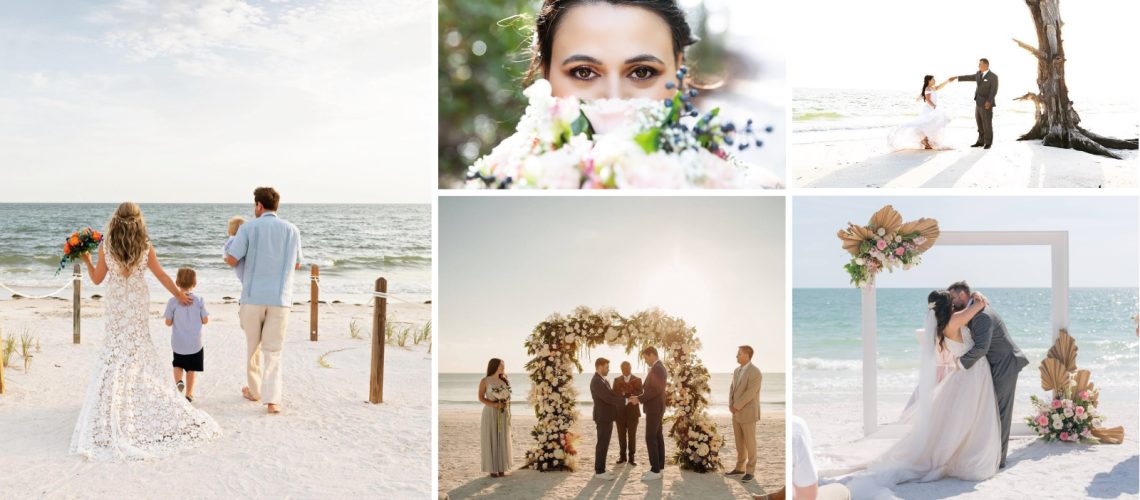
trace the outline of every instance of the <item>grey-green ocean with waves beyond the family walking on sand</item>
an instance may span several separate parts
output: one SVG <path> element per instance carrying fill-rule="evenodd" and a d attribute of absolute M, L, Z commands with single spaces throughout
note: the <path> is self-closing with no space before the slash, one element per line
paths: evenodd
<path fill-rule="evenodd" d="M 0 204 L 0 282 L 40 295 L 70 279 L 56 276 L 63 243 L 72 231 L 103 230 L 117 204 Z M 150 240 L 166 272 L 197 271 L 195 290 L 210 300 L 241 295 L 241 282 L 222 261 L 226 223 L 233 215 L 253 219 L 251 204 L 144 204 Z M 320 267 L 321 298 L 364 303 L 376 278 L 405 300 L 431 298 L 430 205 L 283 205 L 278 212 L 301 230 L 306 263 Z M 85 273 L 85 270 L 84 270 Z M 298 271 L 295 302 L 309 297 L 309 270 Z M 152 300 L 169 294 L 148 278 Z M 84 279 L 83 295 L 103 294 Z M 5 292 L 0 298 L 9 298 Z M 71 297 L 65 290 L 64 296 Z"/>

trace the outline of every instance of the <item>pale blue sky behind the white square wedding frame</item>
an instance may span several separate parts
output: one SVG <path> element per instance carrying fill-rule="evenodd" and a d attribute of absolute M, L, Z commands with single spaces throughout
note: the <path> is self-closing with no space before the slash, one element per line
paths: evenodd
<path fill-rule="evenodd" d="M 1132 197 L 797 197 L 792 243 L 796 288 L 852 286 L 850 260 L 837 237 L 847 222 L 866 224 L 883 205 L 904 221 L 936 219 L 943 231 L 1069 231 L 1073 287 L 1137 287 L 1140 202 Z M 880 287 L 945 287 L 966 279 L 984 287 L 1049 287 L 1048 247 L 972 247 L 936 243 L 910 271 L 879 274 Z"/>

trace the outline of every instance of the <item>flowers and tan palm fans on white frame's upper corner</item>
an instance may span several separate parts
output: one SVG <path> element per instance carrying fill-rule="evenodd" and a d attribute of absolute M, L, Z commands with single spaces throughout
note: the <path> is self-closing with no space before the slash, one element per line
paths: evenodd
<path fill-rule="evenodd" d="M 856 287 L 874 286 L 874 277 L 886 270 L 909 270 L 922 261 L 922 254 L 938 239 L 938 221 L 919 219 L 903 222 L 893 206 L 880 208 L 866 226 L 847 223 L 839 231 L 844 249 L 852 255 L 844 265 Z"/>

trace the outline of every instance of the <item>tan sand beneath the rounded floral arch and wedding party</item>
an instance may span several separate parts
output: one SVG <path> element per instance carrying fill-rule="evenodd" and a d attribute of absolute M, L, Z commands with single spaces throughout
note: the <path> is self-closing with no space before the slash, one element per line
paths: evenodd
<path fill-rule="evenodd" d="M 587 409 L 588 410 L 588 409 Z M 579 409 L 579 412 L 583 412 Z M 751 494 L 771 493 L 784 482 L 784 416 L 768 411 L 763 413 L 757 432 L 758 461 L 756 481 L 741 483 L 740 476 L 728 478 L 724 472 L 698 474 L 683 472 L 675 465 L 665 468 L 661 481 L 642 482 L 641 475 L 649 470 L 645 454 L 645 419 L 637 431 L 637 466 L 616 466 L 618 459 L 617 432 L 610 444 L 606 470 L 616 473 L 613 481 L 594 479 L 594 443 L 596 433 L 588 413 L 579 420 L 581 436 L 578 441 L 578 470 L 573 473 L 539 473 L 524 469 L 508 473 L 506 477 L 491 478 L 480 472 L 479 419 L 480 412 L 472 410 L 441 410 L 439 415 L 439 497 L 464 498 L 528 498 L 528 499 L 618 499 L 618 498 L 677 498 L 677 499 L 728 499 L 751 498 Z M 717 431 L 726 437 L 720 452 L 722 464 L 731 468 L 735 464 L 735 448 L 728 416 L 715 417 Z M 534 412 L 526 405 L 515 404 L 511 423 L 515 467 L 526 462 L 526 451 L 532 444 L 530 429 L 535 425 Z M 666 457 L 674 453 L 673 440 L 668 436 L 666 423 Z M 445 444 L 446 443 L 446 444 Z"/>

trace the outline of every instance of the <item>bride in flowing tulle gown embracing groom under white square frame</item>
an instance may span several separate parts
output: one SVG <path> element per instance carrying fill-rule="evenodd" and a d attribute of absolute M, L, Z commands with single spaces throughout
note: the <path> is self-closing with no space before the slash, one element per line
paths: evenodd
<path fill-rule="evenodd" d="M 985 309 L 986 300 L 976 294 L 974 303 L 960 312 L 953 311 L 947 292 L 931 292 L 928 302 L 919 401 L 902 419 L 911 429 L 872 460 L 866 472 L 852 478 L 848 485 L 853 493 L 858 492 L 854 494 L 856 498 L 874 498 L 881 494 L 881 489 L 905 482 L 944 477 L 982 481 L 997 473 L 1001 425 L 990 364 L 985 356 L 970 369 L 956 363 L 974 346 L 966 325 Z M 939 350 L 953 358 L 955 364 L 936 383 Z"/>

